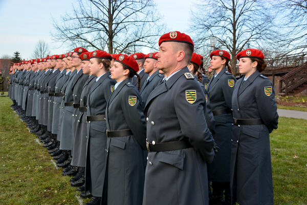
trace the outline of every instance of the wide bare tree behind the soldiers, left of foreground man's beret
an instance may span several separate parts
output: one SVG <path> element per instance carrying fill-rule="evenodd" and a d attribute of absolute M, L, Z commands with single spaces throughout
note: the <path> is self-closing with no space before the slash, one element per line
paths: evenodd
<path fill-rule="evenodd" d="M 164 32 L 151 0 L 79 0 L 72 14 L 54 20 L 54 39 L 70 47 L 83 46 L 109 53 L 156 49 Z"/>

